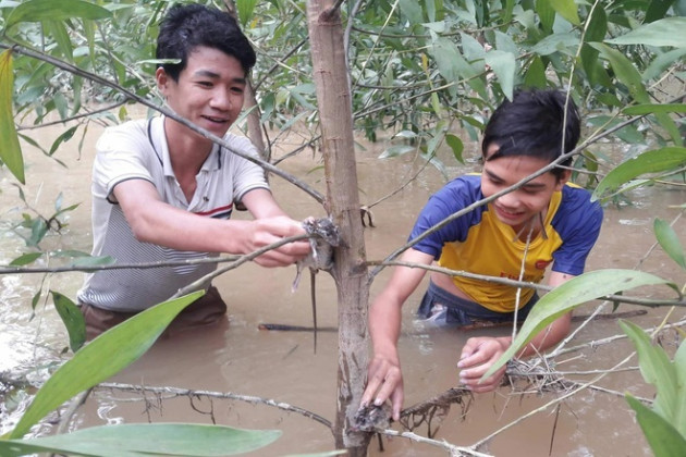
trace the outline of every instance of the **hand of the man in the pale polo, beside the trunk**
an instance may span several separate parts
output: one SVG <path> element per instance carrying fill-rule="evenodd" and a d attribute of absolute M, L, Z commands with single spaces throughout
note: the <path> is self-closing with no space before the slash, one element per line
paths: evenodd
<path fill-rule="evenodd" d="M 247 228 L 242 249 L 244 254 L 253 252 L 282 238 L 305 234 L 299 222 L 284 215 L 252 221 Z M 257 257 L 255 263 L 261 267 L 287 267 L 305 258 L 309 251 L 309 242 L 303 239 L 270 249 Z"/>

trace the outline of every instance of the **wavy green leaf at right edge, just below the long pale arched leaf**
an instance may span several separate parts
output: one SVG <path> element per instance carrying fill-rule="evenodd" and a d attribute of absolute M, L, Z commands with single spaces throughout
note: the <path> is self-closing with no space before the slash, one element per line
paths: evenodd
<path fill-rule="evenodd" d="M 620 325 L 636 347 L 638 366 L 644 380 L 656 386 L 653 409 L 670 423 L 677 425 L 675 420 L 679 416 L 679 395 L 684 397 L 686 392 L 679 388 L 674 365 L 664 349 L 653 345 L 641 328 L 624 320 L 620 320 Z"/>

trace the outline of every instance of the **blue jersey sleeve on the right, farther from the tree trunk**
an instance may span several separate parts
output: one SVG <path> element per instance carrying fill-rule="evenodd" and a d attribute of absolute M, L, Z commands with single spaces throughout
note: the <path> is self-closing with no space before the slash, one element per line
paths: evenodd
<path fill-rule="evenodd" d="M 585 189 L 572 188 L 563 195 L 566 214 L 553 226 L 562 236 L 562 246 L 553 254 L 552 270 L 572 275 L 584 273 L 586 258 L 598 240 L 603 212 L 598 201 L 590 201 Z"/>

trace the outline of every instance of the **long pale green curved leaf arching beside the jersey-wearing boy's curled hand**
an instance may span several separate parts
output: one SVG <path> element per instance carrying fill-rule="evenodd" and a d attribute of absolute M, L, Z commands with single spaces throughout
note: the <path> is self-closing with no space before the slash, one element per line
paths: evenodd
<path fill-rule="evenodd" d="M 677 289 L 676 285 L 670 281 L 634 270 L 597 270 L 567 281 L 543 295 L 543 297 L 534 305 L 534 308 L 526 318 L 526 321 L 524 321 L 519 333 L 512 342 L 510 348 L 489 368 L 481 379 L 493 374 L 526 346 L 540 331 L 546 329 L 555 319 L 572 311 L 575 307 L 589 300 L 604 297 L 605 295 L 616 294 L 644 285 L 657 284 L 666 284 Z"/>

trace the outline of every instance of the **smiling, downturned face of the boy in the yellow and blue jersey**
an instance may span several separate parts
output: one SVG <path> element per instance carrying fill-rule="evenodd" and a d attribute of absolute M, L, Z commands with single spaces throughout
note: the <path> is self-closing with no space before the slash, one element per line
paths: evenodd
<path fill-rule="evenodd" d="M 498 148 L 498 145 L 489 146 L 486 158 L 495 153 Z M 531 156 L 505 156 L 485 161 L 481 192 L 485 197 L 490 197 L 548 164 L 547 160 Z M 501 222 L 511 225 L 515 232 L 519 232 L 534 217 L 548 209 L 553 193 L 561 190 L 568 178 L 568 171 L 565 171 L 560 178 L 551 172 L 546 172 L 520 188 L 497 198 L 489 203 L 489 208 Z"/>

